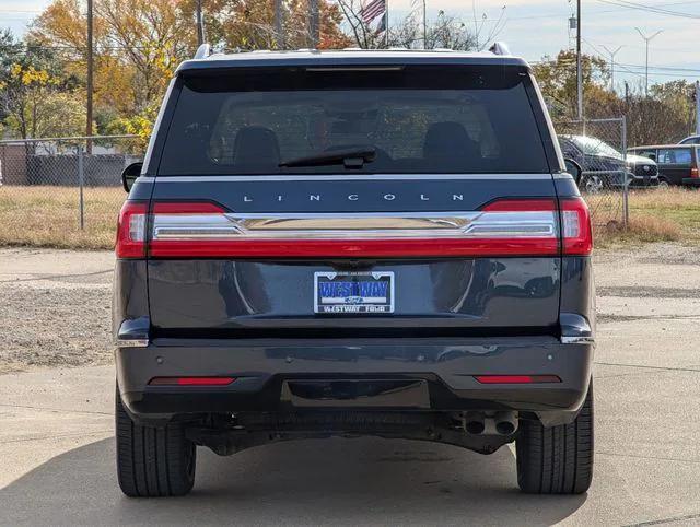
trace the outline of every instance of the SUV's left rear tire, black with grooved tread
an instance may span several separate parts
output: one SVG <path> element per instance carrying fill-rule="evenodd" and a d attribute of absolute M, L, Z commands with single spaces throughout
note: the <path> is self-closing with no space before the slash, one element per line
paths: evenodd
<path fill-rule="evenodd" d="M 117 476 L 130 497 L 182 496 L 195 484 L 196 445 L 182 423 L 142 426 L 116 396 Z"/>

